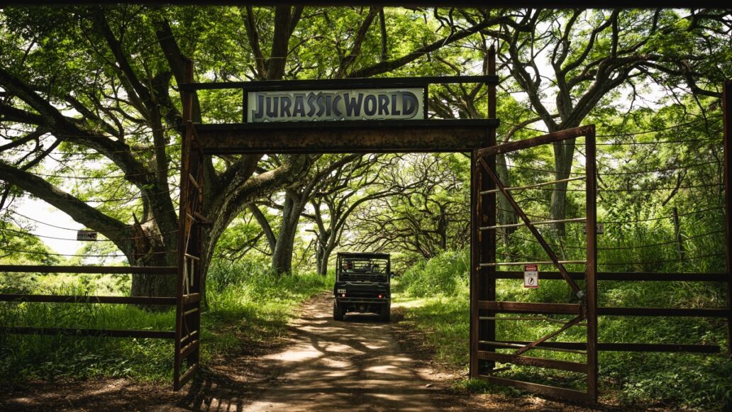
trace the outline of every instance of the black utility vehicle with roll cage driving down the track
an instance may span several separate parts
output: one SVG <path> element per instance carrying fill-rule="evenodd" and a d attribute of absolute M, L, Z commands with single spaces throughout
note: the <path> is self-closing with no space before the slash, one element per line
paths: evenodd
<path fill-rule="evenodd" d="M 333 319 L 349 312 L 370 312 L 389 321 L 391 260 L 388 253 L 338 253 L 333 288 Z"/>

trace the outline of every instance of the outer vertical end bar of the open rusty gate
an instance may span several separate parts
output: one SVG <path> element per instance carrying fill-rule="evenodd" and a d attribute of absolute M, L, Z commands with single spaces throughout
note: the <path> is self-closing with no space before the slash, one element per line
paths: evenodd
<path fill-rule="evenodd" d="M 595 127 L 591 124 L 585 132 L 585 208 L 586 208 L 586 259 L 584 308 L 587 318 L 587 395 L 597 402 L 597 164 Z"/>

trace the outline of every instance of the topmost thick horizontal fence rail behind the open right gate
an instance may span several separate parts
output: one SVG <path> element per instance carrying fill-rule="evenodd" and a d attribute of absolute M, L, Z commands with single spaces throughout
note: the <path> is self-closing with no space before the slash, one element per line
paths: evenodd
<path fill-rule="evenodd" d="M 569 276 L 575 280 L 583 280 L 585 272 L 570 271 Z M 542 271 L 539 276 L 546 280 L 563 280 L 558 271 Z M 496 279 L 523 279 L 522 271 L 496 271 Z M 630 280 L 646 282 L 725 282 L 727 273 L 654 273 L 648 271 L 600 271 L 596 274 L 598 281 Z"/>

